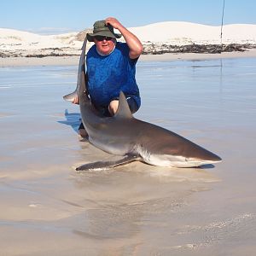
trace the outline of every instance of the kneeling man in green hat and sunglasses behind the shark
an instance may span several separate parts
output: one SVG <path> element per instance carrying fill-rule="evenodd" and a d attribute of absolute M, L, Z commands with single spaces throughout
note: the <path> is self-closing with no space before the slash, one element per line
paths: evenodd
<path fill-rule="evenodd" d="M 121 35 L 114 33 L 113 28 Z M 121 36 L 126 43 L 117 42 L 116 38 Z M 87 89 L 92 104 L 104 116 L 112 116 L 118 109 L 119 92 L 122 90 L 131 112 L 137 112 L 141 99 L 135 73 L 143 44 L 113 17 L 96 21 L 93 33 L 88 33 L 87 38 L 95 43 L 86 56 Z M 79 104 L 78 98 L 73 103 Z M 79 126 L 79 134 L 87 136 L 83 124 Z"/>

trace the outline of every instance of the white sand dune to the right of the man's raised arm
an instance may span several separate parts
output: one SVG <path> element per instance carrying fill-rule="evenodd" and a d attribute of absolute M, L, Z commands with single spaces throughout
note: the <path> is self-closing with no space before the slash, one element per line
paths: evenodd
<path fill-rule="evenodd" d="M 133 27 L 138 38 L 144 42 L 168 44 L 220 44 L 221 26 L 206 26 L 190 22 L 160 22 L 148 26 Z M 224 44 L 255 44 L 256 25 L 233 24 L 223 26 Z"/>

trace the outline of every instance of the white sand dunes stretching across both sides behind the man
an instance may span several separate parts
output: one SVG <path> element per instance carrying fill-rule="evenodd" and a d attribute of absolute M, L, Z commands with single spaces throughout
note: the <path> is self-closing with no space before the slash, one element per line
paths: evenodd
<path fill-rule="evenodd" d="M 220 26 L 166 21 L 148 26 L 131 27 L 144 44 L 220 44 Z M 14 29 L 0 28 L 0 50 L 33 49 L 80 49 L 82 42 L 77 39 L 78 32 L 61 35 L 38 35 Z M 223 27 L 224 44 L 256 44 L 256 25 L 233 24 Z"/>

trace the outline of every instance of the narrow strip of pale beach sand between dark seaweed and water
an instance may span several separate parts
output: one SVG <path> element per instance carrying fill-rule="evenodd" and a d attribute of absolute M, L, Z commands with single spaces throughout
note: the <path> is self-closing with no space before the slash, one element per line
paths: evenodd
<path fill-rule="evenodd" d="M 223 52 L 221 54 L 207 53 L 166 53 L 162 55 L 141 55 L 139 61 L 197 61 L 228 58 L 255 58 L 256 49 L 246 51 Z M 37 57 L 7 57 L 0 58 L 0 67 L 28 66 L 73 66 L 79 65 L 79 55 Z"/>

